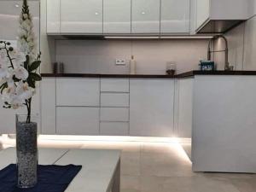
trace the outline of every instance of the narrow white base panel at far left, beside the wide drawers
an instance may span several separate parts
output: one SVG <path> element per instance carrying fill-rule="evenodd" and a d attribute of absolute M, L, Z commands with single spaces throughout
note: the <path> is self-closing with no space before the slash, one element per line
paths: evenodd
<path fill-rule="evenodd" d="M 41 82 L 42 133 L 55 134 L 55 78 L 44 78 Z"/>

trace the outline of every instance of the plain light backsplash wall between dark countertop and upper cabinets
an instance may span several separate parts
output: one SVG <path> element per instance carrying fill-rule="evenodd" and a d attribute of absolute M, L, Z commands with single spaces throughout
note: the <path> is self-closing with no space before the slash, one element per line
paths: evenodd
<path fill-rule="evenodd" d="M 129 73 L 129 65 L 115 59 L 137 61 L 137 73 L 166 73 L 166 62 L 176 61 L 177 73 L 198 69 L 207 58 L 207 40 L 57 40 L 56 61 L 66 73 Z"/>

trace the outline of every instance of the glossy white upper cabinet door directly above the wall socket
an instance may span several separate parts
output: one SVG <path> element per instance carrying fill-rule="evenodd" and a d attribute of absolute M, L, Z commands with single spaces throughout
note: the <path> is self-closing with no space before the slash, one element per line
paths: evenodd
<path fill-rule="evenodd" d="M 131 0 L 104 0 L 103 32 L 131 33 Z"/>

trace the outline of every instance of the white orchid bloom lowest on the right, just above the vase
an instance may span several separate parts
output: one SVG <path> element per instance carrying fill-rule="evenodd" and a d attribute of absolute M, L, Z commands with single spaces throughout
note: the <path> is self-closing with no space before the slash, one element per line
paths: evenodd
<path fill-rule="evenodd" d="M 34 89 L 27 83 L 20 81 L 16 87 L 15 93 L 20 98 L 20 100 L 27 100 L 33 96 L 33 91 Z"/>

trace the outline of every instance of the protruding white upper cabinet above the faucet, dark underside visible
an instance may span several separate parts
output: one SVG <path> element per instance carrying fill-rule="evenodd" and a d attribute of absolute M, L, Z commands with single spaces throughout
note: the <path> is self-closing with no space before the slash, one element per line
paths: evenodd
<path fill-rule="evenodd" d="M 252 0 L 191 0 L 196 32 L 224 33 L 252 16 Z M 192 26 L 193 27 L 193 26 Z"/>

